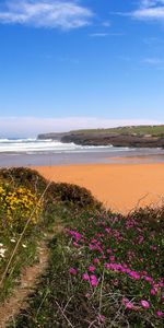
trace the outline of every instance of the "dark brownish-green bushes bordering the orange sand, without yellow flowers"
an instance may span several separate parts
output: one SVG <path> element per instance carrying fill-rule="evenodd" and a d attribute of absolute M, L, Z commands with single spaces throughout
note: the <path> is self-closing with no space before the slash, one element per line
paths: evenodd
<path fill-rule="evenodd" d="M 80 208 L 102 207 L 102 203 L 97 201 L 87 189 L 77 185 L 57 184 L 54 181 L 48 186 L 48 181 L 35 169 L 26 167 L 3 168 L 0 169 L 0 179 L 8 181 L 8 184 L 14 187 L 25 186 L 39 196 L 46 190 L 45 204 L 48 203 L 48 206 L 50 200 L 52 202 L 61 201 L 75 204 Z"/>

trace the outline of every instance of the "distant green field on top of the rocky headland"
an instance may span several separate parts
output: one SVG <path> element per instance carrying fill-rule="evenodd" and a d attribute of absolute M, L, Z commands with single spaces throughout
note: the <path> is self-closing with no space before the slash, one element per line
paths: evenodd
<path fill-rule="evenodd" d="M 152 136 L 164 136 L 163 126 L 131 126 L 131 127 L 118 127 L 109 129 L 84 129 L 84 130 L 72 130 L 73 133 L 137 133 L 137 134 L 152 134 Z"/>

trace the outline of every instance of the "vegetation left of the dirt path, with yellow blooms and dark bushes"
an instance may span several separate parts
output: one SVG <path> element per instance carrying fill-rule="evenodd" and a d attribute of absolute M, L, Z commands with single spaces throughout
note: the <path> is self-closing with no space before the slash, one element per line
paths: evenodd
<path fill-rule="evenodd" d="M 68 185 L 68 191 L 69 197 L 66 184 L 49 184 L 32 169 L 0 169 L 0 301 L 11 293 L 21 269 L 37 260 L 37 244 L 58 222 L 58 207 L 101 208 L 85 188 Z"/>

